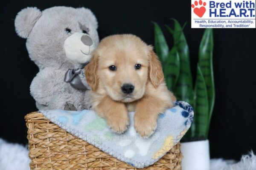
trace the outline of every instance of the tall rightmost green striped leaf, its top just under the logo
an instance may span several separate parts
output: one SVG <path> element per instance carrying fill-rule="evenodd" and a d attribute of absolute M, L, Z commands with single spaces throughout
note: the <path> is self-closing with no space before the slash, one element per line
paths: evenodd
<path fill-rule="evenodd" d="M 209 118 L 207 126 L 207 136 L 209 131 L 209 125 L 212 117 L 212 111 L 215 101 L 215 88 L 214 88 L 214 78 L 213 78 L 213 68 L 212 68 L 212 53 L 213 53 L 213 33 L 212 28 L 207 28 L 204 31 L 200 47 L 199 47 L 199 58 L 198 64 L 204 76 L 205 84 L 207 87 L 208 94 L 208 105 L 209 105 Z"/>

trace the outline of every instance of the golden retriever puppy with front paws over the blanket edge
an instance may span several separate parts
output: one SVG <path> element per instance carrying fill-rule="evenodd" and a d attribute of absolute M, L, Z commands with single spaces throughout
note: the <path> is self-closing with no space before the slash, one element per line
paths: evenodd
<path fill-rule="evenodd" d="M 172 108 L 176 100 L 166 87 L 152 46 L 135 35 L 104 38 L 93 51 L 85 76 L 92 88 L 93 110 L 117 133 L 128 128 L 128 111 L 135 111 L 134 128 L 140 136 L 150 136 L 158 114 Z"/>

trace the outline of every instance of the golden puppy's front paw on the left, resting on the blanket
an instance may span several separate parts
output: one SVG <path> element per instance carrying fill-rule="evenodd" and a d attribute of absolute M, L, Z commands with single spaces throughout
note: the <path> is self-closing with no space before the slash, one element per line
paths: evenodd
<path fill-rule="evenodd" d="M 128 113 L 120 113 L 108 119 L 108 126 L 116 133 L 124 133 L 129 127 Z"/>

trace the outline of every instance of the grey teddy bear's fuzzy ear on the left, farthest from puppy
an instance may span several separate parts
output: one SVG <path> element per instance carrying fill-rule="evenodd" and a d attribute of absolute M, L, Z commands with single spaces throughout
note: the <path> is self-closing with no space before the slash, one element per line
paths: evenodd
<path fill-rule="evenodd" d="M 22 38 L 27 38 L 42 12 L 36 7 L 22 9 L 15 18 L 15 30 Z"/>

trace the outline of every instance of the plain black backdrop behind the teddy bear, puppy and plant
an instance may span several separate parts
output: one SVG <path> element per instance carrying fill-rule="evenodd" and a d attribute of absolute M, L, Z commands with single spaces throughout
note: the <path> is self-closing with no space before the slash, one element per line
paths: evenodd
<path fill-rule="evenodd" d="M 38 72 L 26 51 L 25 39 L 17 36 L 14 19 L 27 6 L 41 10 L 52 6 L 90 8 L 99 21 L 99 37 L 131 33 L 154 43 L 151 21 L 188 22 L 184 33 L 190 48 L 195 78 L 198 47 L 203 29 L 192 29 L 190 1 L 174 0 L 8 0 L 0 2 L 0 138 L 26 144 L 26 113 L 36 111 L 29 85 Z M 163 27 L 162 27 L 163 28 Z M 164 29 L 164 28 L 163 28 Z M 172 45 L 171 36 L 169 45 Z M 211 157 L 239 159 L 256 152 L 256 30 L 214 29 L 215 108 L 209 132 Z"/>

